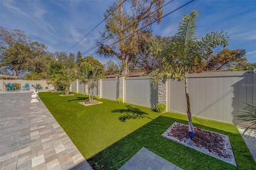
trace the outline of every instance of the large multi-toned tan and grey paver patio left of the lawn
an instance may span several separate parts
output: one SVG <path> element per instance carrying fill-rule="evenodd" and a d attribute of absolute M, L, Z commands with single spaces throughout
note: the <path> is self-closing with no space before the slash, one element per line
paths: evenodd
<path fill-rule="evenodd" d="M 0 94 L 1 170 L 92 170 L 42 101 Z"/>

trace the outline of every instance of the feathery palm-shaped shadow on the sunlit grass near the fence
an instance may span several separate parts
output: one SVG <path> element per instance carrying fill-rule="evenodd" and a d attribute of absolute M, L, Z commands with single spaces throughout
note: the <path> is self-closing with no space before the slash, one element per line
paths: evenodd
<path fill-rule="evenodd" d="M 114 109 L 111 111 L 111 113 L 124 113 L 124 115 L 118 117 L 118 120 L 121 122 L 126 122 L 128 119 L 142 119 L 147 117 L 148 113 L 143 112 L 142 110 L 131 107 L 130 105 L 126 106 L 127 109 Z M 151 119 L 150 117 L 147 117 L 148 119 Z M 153 120 L 153 119 L 151 119 Z"/>

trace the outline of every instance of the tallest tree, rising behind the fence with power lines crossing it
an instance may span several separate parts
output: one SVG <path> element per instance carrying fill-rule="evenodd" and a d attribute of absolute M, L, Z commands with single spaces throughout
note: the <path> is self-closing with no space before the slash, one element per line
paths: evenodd
<path fill-rule="evenodd" d="M 152 32 L 151 26 L 142 30 L 140 28 L 160 19 L 163 12 L 161 7 L 164 4 L 164 0 L 127 0 L 126 2 L 130 2 L 128 4 L 130 11 L 124 7 L 122 0 L 116 0 L 112 6 L 108 7 L 104 13 L 106 26 L 104 32 L 101 33 L 102 39 L 96 42 L 99 46 L 97 52 L 101 56 L 113 57 L 115 55 L 122 61 L 122 75 L 129 74 L 128 64 L 138 53 L 139 41 L 148 38 L 148 34 Z M 152 12 L 152 9 L 155 9 L 155 12 Z M 161 20 L 157 21 L 158 24 L 160 22 Z M 105 43 L 107 38 L 117 43 L 113 45 Z"/>

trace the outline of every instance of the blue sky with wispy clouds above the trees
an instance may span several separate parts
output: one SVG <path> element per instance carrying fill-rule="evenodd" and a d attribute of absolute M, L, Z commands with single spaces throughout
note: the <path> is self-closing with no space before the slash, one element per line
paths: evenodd
<path fill-rule="evenodd" d="M 104 18 L 103 12 L 113 0 L 1 0 L 0 26 L 20 29 L 32 40 L 44 43 L 48 51 L 67 51 Z M 166 1 L 169 2 L 169 1 Z M 189 2 L 174 0 L 164 8 L 164 15 Z M 155 35 L 174 36 L 184 13 L 196 9 L 197 37 L 211 31 L 228 33 L 228 49 L 246 50 L 248 62 L 256 62 L 256 0 L 195 0 L 153 24 Z M 94 14 L 93 14 L 94 13 Z M 84 38 L 70 52 L 86 51 L 100 38 L 104 22 Z M 86 53 L 92 55 L 95 50 Z M 84 55 L 83 55 L 84 57 Z M 101 63 L 109 59 L 93 57 Z"/>

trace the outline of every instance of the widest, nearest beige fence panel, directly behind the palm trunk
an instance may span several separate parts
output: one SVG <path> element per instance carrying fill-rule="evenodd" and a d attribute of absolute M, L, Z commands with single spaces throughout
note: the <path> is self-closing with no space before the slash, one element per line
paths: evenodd
<path fill-rule="evenodd" d="M 189 77 L 192 115 L 244 126 L 251 125 L 250 122 L 238 122 L 236 115 L 243 111 L 240 104 L 254 102 L 253 74 L 247 71 L 236 71 L 190 74 Z M 184 83 L 169 80 L 168 85 L 169 111 L 186 114 Z"/>

